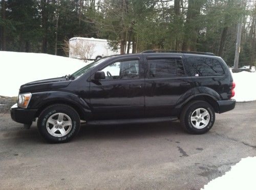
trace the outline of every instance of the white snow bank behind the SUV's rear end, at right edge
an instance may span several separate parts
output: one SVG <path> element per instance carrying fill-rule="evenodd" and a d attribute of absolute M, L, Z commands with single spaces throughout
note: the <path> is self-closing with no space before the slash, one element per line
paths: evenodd
<path fill-rule="evenodd" d="M 232 72 L 231 72 L 232 73 Z M 233 81 L 236 83 L 234 88 L 234 99 L 238 102 L 256 100 L 256 72 L 242 71 L 232 73 Z"/>

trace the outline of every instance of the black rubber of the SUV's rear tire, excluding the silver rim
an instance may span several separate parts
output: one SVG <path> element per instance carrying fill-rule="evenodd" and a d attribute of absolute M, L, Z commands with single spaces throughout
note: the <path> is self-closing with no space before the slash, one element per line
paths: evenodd
<path fill-rule="evenodd" d="M 197 109 L 197 108 L 204 108 L 205 110 L 208 111 L 209 113 L 209 116 L 210 116 L 210 120 L 209 120 L 209 123 L 202 129 L 197 129 L 196 127 L 194 127 L 190 121 L 190 117 L 191 115 L 193 114 L 193 112 Z M 211 107 L 210 104 L 208 103 L 195 103 L 193 105 L 191 105 L 189 108 L 188 108 L 188 111 L 187 113 L 185 114 L 185 124 L 186 124 L 186 127 L 189 128 L 189 130 L 193 131 L 194 133 L 205 133 L 207 132 L 208 130 L 210 130 L 210 128 L 214 125 L 214 122 L 215 122 L 215 112 L 214 112 L 214 109 Z"/>

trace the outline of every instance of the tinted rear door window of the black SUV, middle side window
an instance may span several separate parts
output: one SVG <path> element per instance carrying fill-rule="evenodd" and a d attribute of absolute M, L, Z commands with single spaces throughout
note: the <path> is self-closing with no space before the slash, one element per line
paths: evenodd
<path fill-rule="evenodd" d="M 147 63 L 150 66 L 150 78 L 184 75 L 181 59 L 153 59 Z"/>

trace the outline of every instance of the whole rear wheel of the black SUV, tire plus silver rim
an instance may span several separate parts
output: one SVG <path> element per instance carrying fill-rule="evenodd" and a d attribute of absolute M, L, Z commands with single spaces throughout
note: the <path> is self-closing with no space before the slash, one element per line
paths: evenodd
<path fill-rule="evenodd" d="M 210 130 L 212 125 L 214 125 L 214 108 L 205 101 L 191 101 L 183 108 L 180 120 L 181 126 L 187 132 L 203 134 Z"/>

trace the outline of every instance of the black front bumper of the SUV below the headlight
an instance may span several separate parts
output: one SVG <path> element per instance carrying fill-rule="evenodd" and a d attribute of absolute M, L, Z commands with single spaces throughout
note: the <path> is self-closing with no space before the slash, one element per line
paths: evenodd
<path fill-rule="evenodd" d="M 31 125 L 36 112 L 37 112 L 37 109 L 20 108 L 17 106 L 17 103 L 15 103 L 11 107 L 11 118 L 13 121 L 16 121 L 18 123 Z"/>

